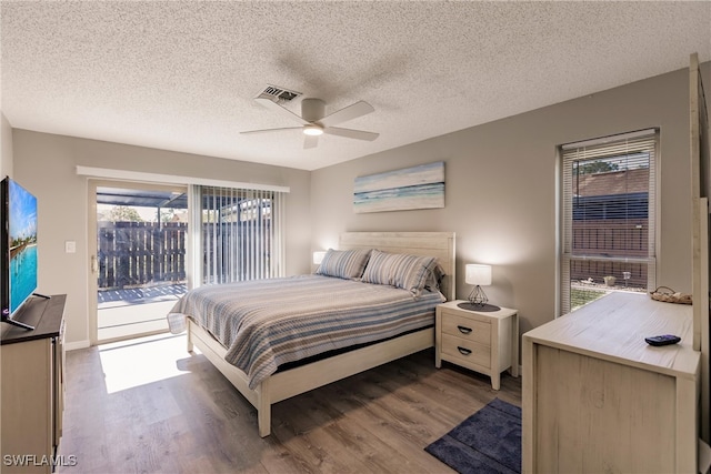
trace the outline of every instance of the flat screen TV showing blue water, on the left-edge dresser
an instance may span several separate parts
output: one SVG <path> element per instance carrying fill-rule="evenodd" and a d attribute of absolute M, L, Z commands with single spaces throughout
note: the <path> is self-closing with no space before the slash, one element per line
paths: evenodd
<path fill-rule="evenodd" d="M 0 182 L 0 317 L 26 329 L 20 309 L 37 290 L 37 198 L 9 177 Z"/>

